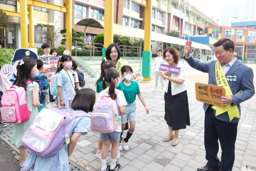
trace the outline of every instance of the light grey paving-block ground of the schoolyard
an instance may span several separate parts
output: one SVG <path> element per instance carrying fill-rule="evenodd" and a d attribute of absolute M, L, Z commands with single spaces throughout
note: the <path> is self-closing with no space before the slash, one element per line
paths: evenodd
<path fill-rule="evenodd" d="M 256 72 L 256 65 L 249 64 Z M 137 70 L 137 68 L 134 68 Z M 137 122 L 133 136 L 129 141 L 129 151 L 121 151 L 119 163 L 121 171 L 195 171 L 204 166 L 204 110 L 203 104 L 195 99 L 195 82 L 207 83 L 208 75 L 187 67 L 187 87 L 191 126 L 180 130 L 179 143 L 173 147 L 170 142 L 163 142 L 168 134 L 164 120 L 164 93 L 152 92 L 152 81 L 140 83 L 140 90 L 149 107 L 150 113 L 137 98 Z M 94 82 L 86 87 L 96 90 Z M 254 84 L 256 81 L 254 79 Z M 160 81 L 159 81 L 160 87 Z M 256 170 L 256 97 L 241 104 L 241 119 L 236 140 L 236 158 L 233 171 L 245 171 L 246 165 Z M 125 133 L 126 135 L 126 133 Z M 99 170 L 101 161 L 95 157 L 99 133 L 89 131 L 81 136 L 71 159 L 86 166 L 87 171 Z M 219 157 L 221 148 L 219 150 Z M 109 153 L 110 155 L 110 153 Z M 1 162 L 0 162 L 1 163 Z M 2 163 L 1 163 L 2 165 Z M 250 168 L 249 168 L 250 170 Z"/>

